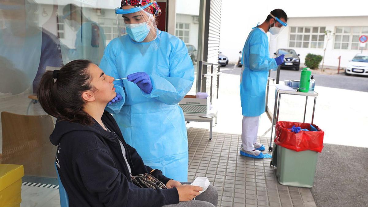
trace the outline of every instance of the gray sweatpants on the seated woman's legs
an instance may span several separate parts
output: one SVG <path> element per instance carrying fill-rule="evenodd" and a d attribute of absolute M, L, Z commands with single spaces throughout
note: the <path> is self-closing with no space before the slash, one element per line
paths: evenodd
<path fill-rule="evenodd" d="M 181 183 L 187 184 L 190 183 Z M 195 200 L 182 201 L 177 204 L 165 205 L 163 207 L 215 207 L 219 199 L 217 189 L 212 185 L 208 186 L 207 190 L 199 196 L 195 197 Z"/>

